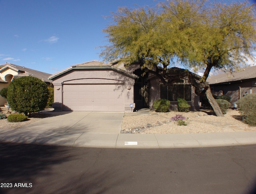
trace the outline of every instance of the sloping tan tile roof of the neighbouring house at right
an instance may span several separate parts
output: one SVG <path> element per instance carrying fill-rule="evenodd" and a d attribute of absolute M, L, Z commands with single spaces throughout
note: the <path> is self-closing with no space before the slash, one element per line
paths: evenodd
<path fill-rule="evenodd" d="M 240 81 L 243 79 L 256 79 L 256 66 L 244 67 L 241 71 L 236 71 L 233 73 L 222 73 L 219 75 L 213 75 L 208 77 L 206 81 L 209 84 L 217 83 L 228 83 L 231 81 Z"/>

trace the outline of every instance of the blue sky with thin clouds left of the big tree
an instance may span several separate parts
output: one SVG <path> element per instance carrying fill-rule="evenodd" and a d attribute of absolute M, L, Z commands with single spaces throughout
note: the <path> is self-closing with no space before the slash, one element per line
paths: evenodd
<path fill-rule="evenodd" d="M 255 1 L 251 0 L 251 3 Z M 54 74 L 100 60 L 102 32 L 118 7 L 154 6 L 154 0 L 0 0 L 0 64 Z"/>

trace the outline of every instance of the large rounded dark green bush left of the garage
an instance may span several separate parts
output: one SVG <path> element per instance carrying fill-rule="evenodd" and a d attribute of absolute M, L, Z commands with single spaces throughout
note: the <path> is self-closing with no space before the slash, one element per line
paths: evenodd
<path fill-rule="evenodd" d="M 44 110 L 48 97 L 46 83 L 36 77 L 14 79 L 8 87 L 7 101 L 10 107 L 25 115 Z"/>

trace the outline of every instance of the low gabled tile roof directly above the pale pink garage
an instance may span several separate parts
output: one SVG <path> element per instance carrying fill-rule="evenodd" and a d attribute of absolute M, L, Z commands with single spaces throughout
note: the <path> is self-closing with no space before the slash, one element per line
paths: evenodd
<path fill-rule="evenodd" d="M 114 67 L 112 64 L 109 64 L 109 63 L 104 63 L 104 62 L 101 62 L 101 61 L 88 61 L 88 62 L 84 62 L 84 63 L 80 63 L 80 64 L 76 64 L 76 65 L 71 65 L 71 67 L 68 67 L 58 73 L 55 73 L 53 75 L 50 75 L 48 77 L 48 79 L 54 79 L 55 77 L 58 77 L 72 69 L 113 69 L 115 71 L 118 71 L 118 72 L 121 72 L 121 73 L 124 73 L 130 77 L 134 77 L 134 78 L 137 78 L 136 75 L 132 74 L 132 73 L 129 73 L 129 72 L 126 72 L 122 69 L 119 69 L 117 67 Z"/>

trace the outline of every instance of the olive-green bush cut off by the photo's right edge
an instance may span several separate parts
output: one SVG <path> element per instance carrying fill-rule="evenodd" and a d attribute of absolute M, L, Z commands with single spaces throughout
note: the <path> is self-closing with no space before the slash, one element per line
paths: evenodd
<path fill-rule="evenodd" d="M 256 125 L 256 94 L 248 94 L 242 97 L 238 104 L 243 121 L 248 125 Z"/>

